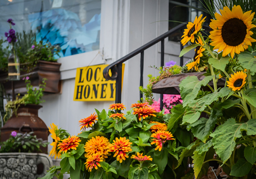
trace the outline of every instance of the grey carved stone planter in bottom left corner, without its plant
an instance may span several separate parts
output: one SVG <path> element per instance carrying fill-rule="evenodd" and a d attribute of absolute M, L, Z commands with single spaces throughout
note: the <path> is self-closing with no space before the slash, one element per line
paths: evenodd
<path fill-rule="evenodd" d="M 36 179 L 53 165 L 42 153 L 0 153 L 0 179 Z"/>

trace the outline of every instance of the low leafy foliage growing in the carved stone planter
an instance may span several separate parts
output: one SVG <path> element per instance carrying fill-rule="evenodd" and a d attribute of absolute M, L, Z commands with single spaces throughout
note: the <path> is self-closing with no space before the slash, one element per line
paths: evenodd
<path fill-rule="evenodd" d="M 0 153 L 5 152 L 36 152 L 41 151 L 40 146 L 46 147 L 49 144 L 47 141 L 37 139 L 34 132 L 18 133 L 15 137 L 10 135 L 10 138 L 2 142 Z"/>

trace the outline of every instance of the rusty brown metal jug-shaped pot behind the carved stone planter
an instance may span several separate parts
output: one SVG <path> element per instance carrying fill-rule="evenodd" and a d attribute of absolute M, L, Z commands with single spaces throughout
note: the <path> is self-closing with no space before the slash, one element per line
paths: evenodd
<path fill-rule="evenodd" d="M 48 140 L 49 130 L 43 120 L 38 117 L 38 109 L 41 107 L 34 104 L 21 105 L 17 110 L 17 116 L 13 113 L 1 128 L 1 141 L 9 139 L 12 131 L 17 133 L 33 131 L 38 139 Z M 43 153 L 47 153 L 47 146 L 41 146 L 40 149 Z"/>

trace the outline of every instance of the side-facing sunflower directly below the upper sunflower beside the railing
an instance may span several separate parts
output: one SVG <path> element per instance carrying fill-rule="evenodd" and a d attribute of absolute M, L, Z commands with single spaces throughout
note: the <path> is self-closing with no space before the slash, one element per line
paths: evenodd
<path fill-rule="evenodd" d="M 203 42 L 201 38 L 198 38 L 197 41 L 195 41 L 197 44 L 200 44 L 201 46 L 197 46 L 195 49 L 195 55 L 194 55 L 194 62 L 191 62 L 187 64 L 188 70 L 191 70 L 192 68 L 195 68 L 195 70 L 198 70 L 198 65 L 200 63 L 200 57 L 203 56 L 202 52 L 205 50 L 203 46 Z"/>

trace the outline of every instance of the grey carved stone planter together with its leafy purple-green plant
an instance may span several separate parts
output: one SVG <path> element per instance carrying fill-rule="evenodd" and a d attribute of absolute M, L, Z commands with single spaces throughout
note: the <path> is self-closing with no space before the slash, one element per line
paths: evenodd
<path fill-rule="evenodd" d="M 0 178 L 36 179 L 44 176 L 52 160 L 46 154 L 35 152 L 47 144 L 47 141 L 37 139 L 33 132 L 12 131 L 9 139 L 0 143 Z"/>

